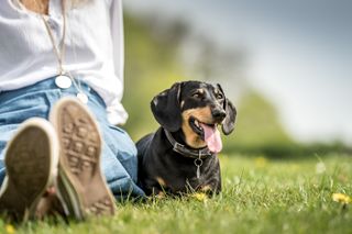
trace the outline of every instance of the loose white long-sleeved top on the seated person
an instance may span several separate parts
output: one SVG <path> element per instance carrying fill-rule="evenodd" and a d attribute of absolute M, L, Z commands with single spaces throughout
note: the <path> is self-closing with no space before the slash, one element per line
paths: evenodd
<path fill-rule="evenodd" d="M 122 0 L 92 0 L 66 11 L 64 69 L 86 81 L 107 104 L 112 124 L 128 118 L 123 92 Z M 61 0 L 50 0 L 48 22 L 56 44 L 63 38 Z M 0 92 L 57 75 L 58 62 L 40 14 L 18 0 L 0 4 Z M 0 100 L 1 101 L 1 100 Z"/>

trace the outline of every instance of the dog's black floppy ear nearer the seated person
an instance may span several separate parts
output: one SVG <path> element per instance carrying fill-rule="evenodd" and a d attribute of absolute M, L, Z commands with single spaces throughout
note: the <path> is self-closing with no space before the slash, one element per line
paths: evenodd
<path fill-rule="evenodd" d="M 179 105 L 180 82 L 155 96 L 151 102 L 155 120 L 167 131 L 176 132 L 182 125 Z"/>

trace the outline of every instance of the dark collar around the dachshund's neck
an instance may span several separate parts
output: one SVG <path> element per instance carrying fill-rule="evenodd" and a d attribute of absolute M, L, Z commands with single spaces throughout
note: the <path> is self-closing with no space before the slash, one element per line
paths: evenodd
<path fill-rule="evenodd" d="M 176 142 L 176 140 L 170 134 L 170 132 L 168 132 L 165 129 L 164 129 L 164 132 L 165 132 L 165 135 L 166 135 L 168 142 L 174 146 L 174 148 L 173 148 L 174 152 L 177 152 L 177 153 L 182 154 L 185 157 L 204 159 L 204 158 L 206 158 L 208 156 L 213 155 L 213 153 L 211 153 L 208 147 L 205 147 L 205 148 L 201 148 L 201 149 L 188 148 L 187 146 Z"/>

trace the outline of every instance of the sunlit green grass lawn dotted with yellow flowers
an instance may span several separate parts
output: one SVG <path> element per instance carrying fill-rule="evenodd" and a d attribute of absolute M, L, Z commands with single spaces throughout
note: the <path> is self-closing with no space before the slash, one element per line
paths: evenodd
<path fill-rule="evenodd" d="M 113 218 L 30 222 L 15 233 L 352 233 L 352 204 L 331 198 L 352 196 L 351 156 L 220 158 L 223 192 L 215 198 L 124 202 Z M 7 227 L 0 221 L 0 233 Z"/>

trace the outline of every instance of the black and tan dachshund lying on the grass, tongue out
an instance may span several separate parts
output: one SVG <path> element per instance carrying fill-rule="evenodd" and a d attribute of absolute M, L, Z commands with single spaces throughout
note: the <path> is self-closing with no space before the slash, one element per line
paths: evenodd
<path fill-rule="evenodd" d="M 230 134 L 237 114 L 220 85 L 177 82 L 151 108 L 161 127 L 136 143 L 140 186 L 147 194 L 220 192 L 218 125 Z"/>

